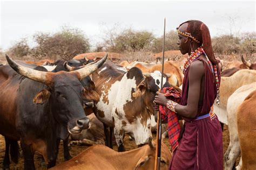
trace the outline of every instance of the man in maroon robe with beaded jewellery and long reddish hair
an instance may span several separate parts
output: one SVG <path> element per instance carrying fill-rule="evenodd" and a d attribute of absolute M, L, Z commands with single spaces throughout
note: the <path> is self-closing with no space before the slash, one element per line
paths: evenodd
<path fill-rule="evenodd" d="M 223 169 L 223 143 L 219 120 L 212 111 L 219 102 L 220 69 L 215 59 L 208 27 L 188 20 L 177 27 L 179 50 L 190 56 L 184 63 L 184 81 L 179 103 L 157 93 L 154 102 L 181 116 L 182 138 L 174 150 L 170 169 Z"/>

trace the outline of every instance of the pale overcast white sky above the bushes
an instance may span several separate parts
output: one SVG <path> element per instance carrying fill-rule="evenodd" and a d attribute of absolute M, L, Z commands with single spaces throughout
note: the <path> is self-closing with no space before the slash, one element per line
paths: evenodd
<path fill-rule="evenodd" d="M 55 33 L 64 25 L 77 27 L 92 46 L 104 30 L 122 28 L 152 31 L 162 36 L 189 19 L 204 22 L 211 36 L 255 32 L 255 1 L 6 1 L 0 0 L 0 48 L 6 50 L 24 37 L 33 46 L 37 32 Z"/>

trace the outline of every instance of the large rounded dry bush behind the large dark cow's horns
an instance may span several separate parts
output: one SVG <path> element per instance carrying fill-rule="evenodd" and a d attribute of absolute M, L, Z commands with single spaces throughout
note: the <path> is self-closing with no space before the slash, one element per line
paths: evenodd
<path fill-rule="evenodd" d="M 37 46 L 31 50 L 31 54 L 39 59 L 48 57 L 56 60 L 60 56 L 63 60 L 70 60 L 90 49 L 89 39 L 85 38 L 83 32 L 70 27 L 62 27 L 60 32 L 52 36 L 49 33 L 37 33 L 33 39 Z"/>

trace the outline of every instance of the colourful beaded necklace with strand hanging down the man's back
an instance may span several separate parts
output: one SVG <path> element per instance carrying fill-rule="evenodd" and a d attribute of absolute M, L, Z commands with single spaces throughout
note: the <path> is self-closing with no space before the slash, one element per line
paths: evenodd
<path fill-rule="evenodd" d="M 219 105 L 220 104 L 220 100 L 219 100 L 219 79 L 218 79 L 218 73 L 217 73 L 217 66 L 216 65 L 212 65 L 212 62 L 208 59 L 208 56 L 206 55 L 204 49 L 202 47 L 198 47 L 196 49 L 196 51 L 192 52 L 190 54 L 190 56 L 188 56 L 187 60 L 184 63 L 184 69 L 183 69 L 183 74 L 185 75 L 186 70 L 188 68 L 188 66 L 190 66 L 190 64 L 199 58 L 200 55 L 205 54 L 206 59 L 211 67 L 211 71 L 213 76 L 215 77 L 215 82 L 216 82 L 216 87 L 217 87 L 217 101 L 216 103 Z"/>

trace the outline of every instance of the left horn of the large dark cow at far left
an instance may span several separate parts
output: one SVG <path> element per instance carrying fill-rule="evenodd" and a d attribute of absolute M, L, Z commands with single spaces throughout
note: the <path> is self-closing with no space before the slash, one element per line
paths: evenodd
<path fill-rule="evenodd" d="M 24 77 L 27 77 L 28 79 L 35 80 L 38 82 L 46 83 L 46 74 L 47 72 L 41 72 L 39 70 L 35 70 L 32 68 L 24 67 L 19 65 L 17 62 L 12 60 L 8 54 L 5 54 L 6 60 L 11 66 L 12 69 L 14 69 L 18 74 L 23 75 Z"/>

